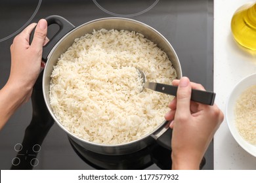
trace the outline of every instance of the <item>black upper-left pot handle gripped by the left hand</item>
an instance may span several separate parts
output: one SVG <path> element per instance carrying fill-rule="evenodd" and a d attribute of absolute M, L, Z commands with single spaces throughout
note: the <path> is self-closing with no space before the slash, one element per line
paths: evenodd
<path fill-rule="evenodd" d="M 45 44 L 45 46 L 43 46 L 43 56 L 42 56 L 43 61 L 47 61 L 47 56 L 53 49 L 54 45 L 58 41 L 60 41 L 60 39 L 62 39 L 62 37 L 64 37 L 64 35 L 66 35 L 68 32 L 70 32 L 72 29 L 75 28 L 75 26 L 73 24 L 68 22 L 68 20 L 66 20 L 62 16 L 51 15 L 51 16 L 48 16 L 47 18 L 45 18 L 45 20 L 47 21 L 48 26 L 52 25 L 52 24 L 57 24 L 60 27 L 60 29 L 53 36 L 53 38 L 49 42 L 47 42 L 47 44 Z M 34 31 L 35 31 L 35 28 L 33 29 L 32 33 L 30 34 L 30 44 L 33 39 Z"/>

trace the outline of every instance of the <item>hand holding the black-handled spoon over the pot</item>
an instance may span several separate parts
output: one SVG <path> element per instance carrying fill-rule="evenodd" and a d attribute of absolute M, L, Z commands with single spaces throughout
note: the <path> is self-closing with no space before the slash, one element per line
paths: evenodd
<path fill-rule="evenodd" d="M 173 169 L 199 169 L 200 162 L 213 139 L 215 131 L 223 122 L 223 112 L 217 105 L 209 106 L 190 101 L 191 89 L 205 90 L 201 84 L 190 82 L 186 77 L 174 80 L 179 86 L 177 97 L 165 119 L 171 121 Z"/>

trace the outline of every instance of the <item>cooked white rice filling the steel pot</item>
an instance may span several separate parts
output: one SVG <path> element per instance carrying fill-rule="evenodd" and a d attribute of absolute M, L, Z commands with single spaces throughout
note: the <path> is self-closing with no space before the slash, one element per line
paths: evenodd
<path fill-rule="evenodd" d="M 170 95 L 142 89 L 136 68 L 151 82 L 177 77 L 165 52 L 140 33 L 101 29 L 60 56 L 51 75 L 56 118 L 77 137 L 123 144 L 151 133 L 164 121 Z"/>

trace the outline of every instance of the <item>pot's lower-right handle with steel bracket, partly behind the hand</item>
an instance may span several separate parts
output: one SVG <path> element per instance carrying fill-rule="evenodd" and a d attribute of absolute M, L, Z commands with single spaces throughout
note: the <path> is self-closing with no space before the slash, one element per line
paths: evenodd
<path fill-rule="evenodd" d="M 156 133 L 152 134 L 151 136 L 162 146 L 168 150 L 171 150 L 171 136 L 173 135 L 173 129 L 169 127 L 169 122 L 165 124 L 160 131 L 156 131 Z"/>

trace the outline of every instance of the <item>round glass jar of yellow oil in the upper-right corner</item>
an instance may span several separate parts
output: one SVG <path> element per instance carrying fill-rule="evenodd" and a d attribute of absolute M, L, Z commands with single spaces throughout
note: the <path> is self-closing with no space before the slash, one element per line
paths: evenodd
<path fill-rule="evenodd" d="M 250 50 L 256 50 L 256 3 L 246 4 L 234 13 L 231 20 L 234 39 Z"/>

